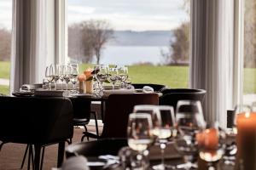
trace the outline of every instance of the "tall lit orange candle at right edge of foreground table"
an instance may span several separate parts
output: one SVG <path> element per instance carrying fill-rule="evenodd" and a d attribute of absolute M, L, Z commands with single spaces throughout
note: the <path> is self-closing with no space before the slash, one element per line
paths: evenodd
<path fill-rule="evenodd" d="M 256 114 L 237 114 L 236 127 L 236 169 L 256 170 Z"/>

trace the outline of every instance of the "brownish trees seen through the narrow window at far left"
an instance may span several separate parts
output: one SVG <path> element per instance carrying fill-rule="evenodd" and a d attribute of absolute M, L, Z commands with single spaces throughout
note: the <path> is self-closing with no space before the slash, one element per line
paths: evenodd
<path fill-rule="evenodd" d="M 0 60 L 9 60 L 11 54 L 11 32 L 0 28 Z"/>

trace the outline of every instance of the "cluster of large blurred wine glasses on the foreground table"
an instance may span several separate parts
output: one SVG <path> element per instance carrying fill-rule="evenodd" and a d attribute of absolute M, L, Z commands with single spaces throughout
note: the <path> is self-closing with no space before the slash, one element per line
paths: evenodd
<path fill-rule="evenodd" d="M 159 144 L 161 162 L 153 169 L 191 169 L 197 167 L 197 158 L 209 162 L 218 161 L 223 156 L 223 146 L 219 128 L 207 124 L 203 117 L 201 102 L 179 100 L 176 114 L 172 106 L 136 105 L 129 116 L 128 145 L 137 150 L 137 161 L 142 159 L 143 151 L 152 144 Z M 185 163 L 177 166 L 165 163 L 167 143 L 173 143 L 183 156 Z"/>

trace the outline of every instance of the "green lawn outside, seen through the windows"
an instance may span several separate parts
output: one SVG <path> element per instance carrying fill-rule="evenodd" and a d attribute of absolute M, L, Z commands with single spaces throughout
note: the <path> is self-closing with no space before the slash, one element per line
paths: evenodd
<path fill-rule="evenodd" d="M 81 64 L 79 71 L 93 65 Z M 9 62 L 0 62 L 0 78 L 9 78 Z M 189 87 L 189 67 L 188 66 L 152 66 L 133 65 L 129 66 L 129 76 L 133 83 L 159 83 L 166 84 L 169 88 Z M 0 86 L 0 94 L 9 94 L 9 88 Z M 256 94 L 256 69 L 247 68 L 244 71 L 244 93 Z"/>

